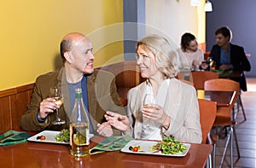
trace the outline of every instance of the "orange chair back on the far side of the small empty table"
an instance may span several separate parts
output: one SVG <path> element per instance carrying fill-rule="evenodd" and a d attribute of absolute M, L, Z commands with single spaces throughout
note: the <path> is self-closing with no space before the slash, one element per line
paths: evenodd
<path fill-rule="evenodd" d="M 217 72 L 209 72 L 209 71 L 195 71 L 191 72 L 192 80 L 195 86 L 195 90 L 203 90 L 204 84 L 206 80 L 212 78 L 218 78 Z"/>

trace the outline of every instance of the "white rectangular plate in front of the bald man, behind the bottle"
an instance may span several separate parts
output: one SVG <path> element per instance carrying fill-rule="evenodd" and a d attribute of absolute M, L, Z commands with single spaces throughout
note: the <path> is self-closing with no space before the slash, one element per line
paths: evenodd
<path fill-rule="evenodd" d="M 38 133 L 35 136 L 31 136 L 27 139 L 27 141 L 30 142 L 48 142 L 48 143 L 60 143 L 60 144 L 69 144 L 69 142 L 56 142 L 55 136 L 59 134 L 60 131 L 54 131 L 54 130 L 44 130 L 40 133 Z M 45 140 L 37 140 L 38 136 L 45 136 Z M 93 134 L 89 135 L 90 138 L 94 136 Z"/>

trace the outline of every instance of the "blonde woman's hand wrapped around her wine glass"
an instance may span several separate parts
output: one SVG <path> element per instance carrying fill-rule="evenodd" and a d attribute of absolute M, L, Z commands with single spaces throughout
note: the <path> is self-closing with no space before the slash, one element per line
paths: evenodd
<path fill-rule="evenodd" d="M 143 117 L 152 119 L 160 125 L 166 124 L 166 120 L 169 120 L 170 117 L 164 112 L 163 107 L 160 107 L 157 104 L 149 104 L 148 107 L 143 107 Z M 170 123 L 168 123 L 169 126 Z"/>

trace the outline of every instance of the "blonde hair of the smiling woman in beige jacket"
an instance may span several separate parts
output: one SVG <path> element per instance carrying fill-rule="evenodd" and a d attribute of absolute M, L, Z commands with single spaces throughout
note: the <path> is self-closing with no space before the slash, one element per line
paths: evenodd
<path fill-rule="evenodd" d="M 166 38 L 160 35 L 150 35 L 137 42 L 136 50 L 139 46 L 152 52 L 156 67 L 164 73 L 166 78 L 174 78 L 177 75 L 177 53 L 172 50 Z"/>

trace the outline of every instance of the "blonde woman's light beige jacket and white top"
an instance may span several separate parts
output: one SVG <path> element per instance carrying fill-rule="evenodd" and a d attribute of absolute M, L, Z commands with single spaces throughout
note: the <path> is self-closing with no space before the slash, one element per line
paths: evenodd
<path fill-rule="evenodd" d="M 181 142 L 201 143 L 201 124 L 195 88 L 177 78 L 162 82 L 155 97 L 171 122 L 166 130 L 162 125 L 150 121 L 152 130 L 143 130 L 143 98 L 148 91 L 147 82 L 128 92 L 127 117 L 133 127 L 132 136 L 138 139 L 162 140 L 162 136 L 174 136 Z"/>

